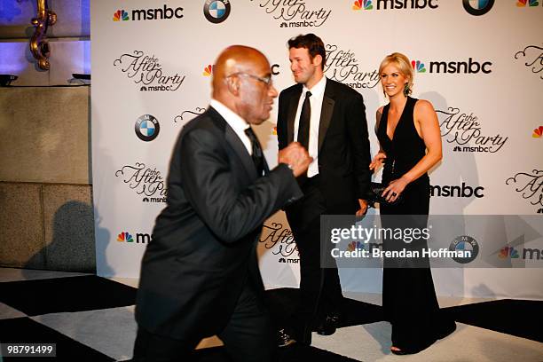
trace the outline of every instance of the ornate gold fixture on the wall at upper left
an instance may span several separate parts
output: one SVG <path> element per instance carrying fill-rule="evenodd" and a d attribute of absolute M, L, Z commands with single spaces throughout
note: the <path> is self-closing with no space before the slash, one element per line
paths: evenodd
<path fill-rule="evenodd" d="M 45 39 L 47 27 L 57 22 L 57 14 L 49 10 L 47 0 L 37 0 L 37 17 L 32 19 L 32 25 L 35 27 L 34 35 L 30 38 L 30 51 L 38 61 L 38 67 L 43 70 L 49 70 L 49 55 L 51 49 Z"/>

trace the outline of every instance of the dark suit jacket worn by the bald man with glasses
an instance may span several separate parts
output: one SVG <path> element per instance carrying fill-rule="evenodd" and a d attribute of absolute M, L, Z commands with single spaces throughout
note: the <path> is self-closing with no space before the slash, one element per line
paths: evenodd
<path fill-rule="evenodd" d="M 264 291 L 256 258 L 264 219 L 301 196 L 285 164 L 257 177 L 215 109 L 187 123 L 170 161 L 168 204 L 142 260 L 139 327 L 177 339 L 221 332 L 246 282 Z"/>

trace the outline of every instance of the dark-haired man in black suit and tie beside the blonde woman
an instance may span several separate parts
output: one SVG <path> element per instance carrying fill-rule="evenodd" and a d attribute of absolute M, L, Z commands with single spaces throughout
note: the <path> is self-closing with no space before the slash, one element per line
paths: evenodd
<path fill-rule="evenodd" d="M 281 91 L 279 150 L 297 141 L 313 158 L 297 177 L 303 198 L 287 207 L 287 220 L 300 253 L 301 301 L 290 326 L 279 329 L 279 346 L 311 343 L 311 330 L 333 334 L 342 303 L 337 268 L 321 268 L 320 216 L 364 216 L 370 185 L 370 147 L 362 96 L 324 76 L 325 46 L 319 36 L 288 41 L 296 84 Z"/>

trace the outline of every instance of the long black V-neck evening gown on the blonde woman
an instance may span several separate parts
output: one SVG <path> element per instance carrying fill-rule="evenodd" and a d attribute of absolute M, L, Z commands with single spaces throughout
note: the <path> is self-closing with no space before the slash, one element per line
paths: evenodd
<path fill-rule="evenodd" d="M 387 135 L 390 105 L 383 108 L 377 138 L 387 154 L 382 176 L 385 184 L 412 169 L 426 153 L 426 146 L 414 127 L 413 111 L 416 102 L 415 98 L 407 98 L 392 139 Z M 407 185 L 396 204 L 380 205 L 380 213 L 383 227 L 398 224 L 426 227 L 429 214 L 428 174 Z M 394 218 L 390 215 L 402 216 Z M 409 221 L 409 216 L 406 218 L 405 215 L 413 216 L 413 219 Z M 404 248 L 406 245 L 401 240 L 383 240 L 383 243 L 384 249 Z M 416 240 L 408 245 L 412 249 L 427 248 L 426 240 Z M 419 267 L 413 268 L 387 264 L 385 260 L 383 269 L 382 303 L 386 319 L 392 325 L 392 345 L 407 353 L 424 350 L 455 329 L 453 319 L 447 319 L 439 310 L 428 260 L 423 262 L 426 262 L 427 267 L 420 267 L 419 264 Z"/>

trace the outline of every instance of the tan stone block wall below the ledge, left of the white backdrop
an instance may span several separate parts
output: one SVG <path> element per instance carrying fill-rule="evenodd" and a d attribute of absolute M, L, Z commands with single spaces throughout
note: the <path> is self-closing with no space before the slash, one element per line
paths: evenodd
<path fill-rule="evenodd" d="M 94 271 L 91 87 L 0 88 L 0 265 Z"/>

